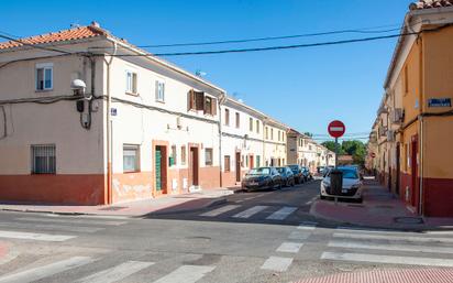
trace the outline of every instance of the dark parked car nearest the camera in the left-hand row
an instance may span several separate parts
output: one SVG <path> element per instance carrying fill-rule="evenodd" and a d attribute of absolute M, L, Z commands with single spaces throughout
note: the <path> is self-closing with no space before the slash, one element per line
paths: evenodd
<path fill-rule="evenodd" d="M 281 176 L 275 167 L 257 167 L 248 171 L 242 179 L 243 191 L 281 188 Z"/>

